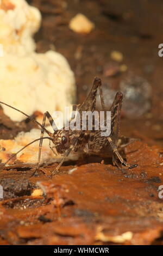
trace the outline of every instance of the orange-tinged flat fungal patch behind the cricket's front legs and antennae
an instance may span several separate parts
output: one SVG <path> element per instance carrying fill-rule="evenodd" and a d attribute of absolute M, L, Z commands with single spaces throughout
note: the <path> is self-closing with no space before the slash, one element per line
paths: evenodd
<path fill-rule="evenodd" d="M 45 133 L 45 136 L 47 134 Z M 8 161 L 8 159 L 18 150 L 22 149 L 28 143 L 34 141 L 34 139 L 40 138 L 40 130 L 39 129 L 32 129 L 30 132 L 20 132 L 15 137 L 15 139 L 1 139 L 0 140 L 0 159 L 2 163 Z M 54 147 L 54 144 L 51 142 L 51 146 Z M 62 159 L 61 155 L 54 156 L 53 151 L 49 148 L 49 140 L 43 140 L 43 147 L 42 147 L 42 154 L 41 154 L 41 164 L 46 163 L 50 164 L 53 162 L 60 162 Z M 12 165 L 15 161 L 20 161 L 26 164 L 36 164 L 37 157 L 39 153 L 39 141 L 34 142 L 33 144 L 29 145 L 26 149 L 22 150 L 20 153 L 16 155 L 13 159 L 10 160 L 8 163 Z M 78 155 L 71 153 L 68 155 L 68 160 L 77 160 Z"/>

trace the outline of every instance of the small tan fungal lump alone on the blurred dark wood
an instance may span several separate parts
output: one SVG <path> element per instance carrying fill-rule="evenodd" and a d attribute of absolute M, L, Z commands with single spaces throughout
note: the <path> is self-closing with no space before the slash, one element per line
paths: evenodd
<path fill-rule="evenodd" d="M 71 19 L 69 28 L 76 33 L 89 34 L 95 25 L 85 15 L 79 13 Z"/>

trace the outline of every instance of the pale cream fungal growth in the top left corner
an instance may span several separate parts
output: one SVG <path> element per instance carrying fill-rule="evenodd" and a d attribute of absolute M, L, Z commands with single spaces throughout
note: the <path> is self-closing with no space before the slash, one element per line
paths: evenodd
<path fill-rule="evenodd" d="M 25 0 L 0 0 L 0 44 L 7 53 L 35 50 L 32 38 L 40 27 L 41 14 Z"/>

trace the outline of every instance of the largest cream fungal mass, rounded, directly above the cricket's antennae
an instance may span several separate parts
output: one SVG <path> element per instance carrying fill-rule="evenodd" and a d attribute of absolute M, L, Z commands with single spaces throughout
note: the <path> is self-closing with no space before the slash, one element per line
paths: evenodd
<path fill-rule="evenodd" d="M 35 111 L 53 114 L 74 101 L 74 76 L 66 59 L 57 52 L 28 56 L 5 54 L 0 62 L 0 99 L 32 115 Z M 13 121 L 26 117 L 2 105 Z"/>

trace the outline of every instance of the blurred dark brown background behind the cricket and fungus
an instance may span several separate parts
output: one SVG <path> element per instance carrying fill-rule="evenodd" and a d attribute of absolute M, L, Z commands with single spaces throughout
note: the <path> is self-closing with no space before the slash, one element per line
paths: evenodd
<path fill-rule="evenodd" d="M 50 48 L 63 54 L 76 77 L 82 102 L 93 78 L 103 81 L 108 107 L 117 90 L 124 93 L 122 133 L 162 144 L 163 132 L 163 2 L 161 0 L 30 0 L 39 8 L 42 26 L 35 35 L 37 52 Z M 93 23 L 90 34 L 68 28 L 82 13 Z M 121 62 L 111 59 L 122 53 Z"/>

